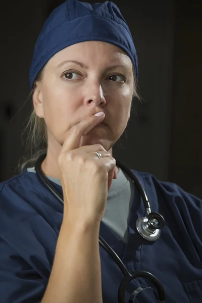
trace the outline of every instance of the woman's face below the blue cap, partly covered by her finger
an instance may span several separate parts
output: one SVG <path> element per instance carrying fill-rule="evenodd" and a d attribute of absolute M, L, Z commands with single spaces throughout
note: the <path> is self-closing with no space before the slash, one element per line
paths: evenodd
<path fill-rule="evenodd" d="M 121 48 L 102 41 L 66 47 L 47 63 L 34 92 L 34 108 L 47 126 L 48 146 L 63 145 L 68 130 L 103 111 L 103 123 L 84 136 L 82 146 L 109 150 L 125 130 L 133 94 L 133 72 Z"/>

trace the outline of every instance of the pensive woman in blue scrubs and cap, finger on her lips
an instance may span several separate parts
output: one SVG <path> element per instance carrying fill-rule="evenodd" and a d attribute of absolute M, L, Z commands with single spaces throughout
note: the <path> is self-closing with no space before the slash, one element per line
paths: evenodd
<path fill-rule="evenodd" d="M 42 172 L 64 203 L 42 184 L 35 159 L 1 183 L 2 303 L 117 303 L 123 274 L 99 235 L 130 273 L 158 278 L 166 302 L 201 301 L 201 200 L 131 170 L 166 222 L 160 238 L 148 241 L 136 229 L 145 216 L 141 195 L 112 156 L 137 78 L 132 37 L 113 3 L 68 0 L 48 17 L 30 68 L 31 121 L 33 138 L 46 142 Z M 133 280 L 126 302 L 137 289 L 134 301 L 157 302 L 150 287 L 149 280 Z"/>

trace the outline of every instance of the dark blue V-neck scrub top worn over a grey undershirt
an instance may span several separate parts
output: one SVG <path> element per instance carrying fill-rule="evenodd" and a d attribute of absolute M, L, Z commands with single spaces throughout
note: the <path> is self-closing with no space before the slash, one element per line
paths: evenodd
<path fill-rule="evenodd" d="M 148 242 L 136 231 L 136 220 L 145 215 L 138 190 L 130 211 L 127 243 L 103 222 L 100 222 L 100 235 L 129 272 L 145 270 L 160 280 L 167 303 L 202 302 L 202 201 L 176 184 L 160 182 L 147 173 L 132 172 L 142 183 L 151 210 L 165 219 L 161 237 Z M 62 193 L 59 185 L 54 186 Z M 36 174 L 24 171 L 0 184 L 1 303 L 40 302 L 51 274 L 62 220 L 63 206 Z M 118 303 L 123 274 L 105 249 L 99 247 L 99 251 L 103 302 Z M 153 285 L 143 278 L 131 282 L 126 302 L 139 286 Z M 158 300 L 154 291 L 147 289 L 134 302 Z"/>

